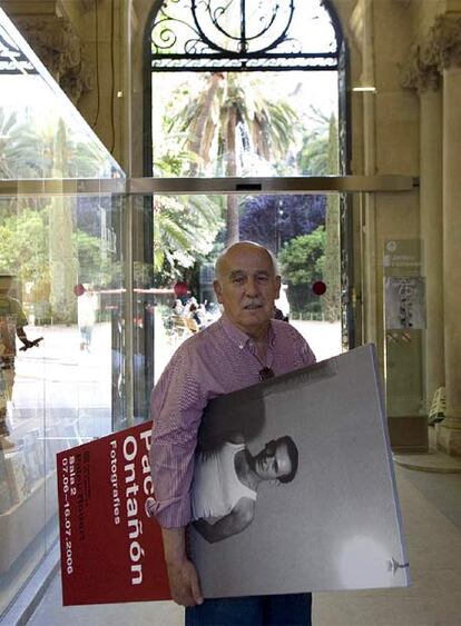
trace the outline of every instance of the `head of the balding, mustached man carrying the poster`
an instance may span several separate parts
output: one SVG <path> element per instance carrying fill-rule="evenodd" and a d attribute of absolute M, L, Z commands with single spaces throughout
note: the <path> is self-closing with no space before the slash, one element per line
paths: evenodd
<path fill-rule="evenodd" d="M 264 248 L 251 244 L 233 246 L 223 258 L 214 284 L 217 300 L 230 321 L 251 337 L 267 329 L 278 298 L 281 278 Z"/>

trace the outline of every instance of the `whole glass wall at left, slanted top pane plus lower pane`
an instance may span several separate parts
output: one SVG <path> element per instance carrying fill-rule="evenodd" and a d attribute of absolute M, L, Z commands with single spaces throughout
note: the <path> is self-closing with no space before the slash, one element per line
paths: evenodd
<path fill-rule="evenodd" d="M 0 10 L 0 183 L 84 177 L 124 172 Z M 0 275 L 13 275 L 16 305 L 0 286 L 0 614 L 56 541 L 56 454 L 126 417 L 122 199 L 8 193 Z M 42 340 L 22 351 L 21 328 Z"/>

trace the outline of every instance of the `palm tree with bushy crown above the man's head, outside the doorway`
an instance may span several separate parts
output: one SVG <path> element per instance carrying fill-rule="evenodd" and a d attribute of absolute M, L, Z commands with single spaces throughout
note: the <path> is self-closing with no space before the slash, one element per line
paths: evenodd
<path fill-rule="evenodd" d="M 185 149 L 196 155 L 188 176 L 203 175 L 210 168 L 214 176 L 245 173 L 242 161 L 249 153 L 268 163 L 285 157 L 297 121 L 287 102 L 269 99 L 255 74 L 212 72 L 200 80 L 198 93 L 190 97 L 171 125 L 171 130 L 185 137 Z M 235 195 L 227 196 L 226 227 L 226 244 L 237 241 Z"/>

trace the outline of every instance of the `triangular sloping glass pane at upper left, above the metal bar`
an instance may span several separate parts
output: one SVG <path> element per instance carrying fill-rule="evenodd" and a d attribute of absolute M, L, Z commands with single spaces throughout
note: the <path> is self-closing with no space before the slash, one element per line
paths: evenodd
<path fill-rule="evenodd" d="M 0 180 L 124 176 L 0 9 Z"/>

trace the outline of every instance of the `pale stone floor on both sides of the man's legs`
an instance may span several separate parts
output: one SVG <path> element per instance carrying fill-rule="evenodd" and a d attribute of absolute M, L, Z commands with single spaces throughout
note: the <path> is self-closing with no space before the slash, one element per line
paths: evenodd
<path fill-rule="evenodd" d="M 412 586 L 315 594 L 315 626 L 461 625 L 461 459 L 435 450 L 399 456 L 395 474 Z M 56 577 L 28 624 L 180 626 L 183 610 L 173 603 L 62 608 Z"/>

